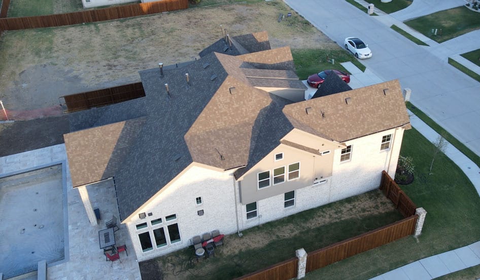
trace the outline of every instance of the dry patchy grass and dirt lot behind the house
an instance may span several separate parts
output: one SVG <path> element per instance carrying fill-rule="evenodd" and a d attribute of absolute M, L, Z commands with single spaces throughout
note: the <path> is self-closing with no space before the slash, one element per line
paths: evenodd
<path fill-rule="evenodd" d="M 288 12 L 292 17 L 279 23 L 279 14 Z M 339 48 L 279 0 L 6 31 L 0 37 L 0 100 L 17 121 L 61 115 L 61 96 L 138 82 L 138 71 L 158 62 L 198 58 L 199 51 L 221 38 L 220 25 L 231 36 L 266 30 L 272 48 Z M 0 133 L 5 127 L 0 124 Z M 12 127 L 11 133 L 20 133 Z M 50 129 L 56 134 L 66 130 Z M 22 150 L 15 149 L 18 143 L 8 144 Z"/>

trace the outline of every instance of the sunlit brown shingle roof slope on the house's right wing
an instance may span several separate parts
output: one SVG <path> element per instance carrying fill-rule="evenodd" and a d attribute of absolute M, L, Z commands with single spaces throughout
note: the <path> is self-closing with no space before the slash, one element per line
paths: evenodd
<path fill-rule="evenodd" d="M 337 142 L 410 123 L 398 80 L 286 105 L 283 112 L 296 128 Z"/>

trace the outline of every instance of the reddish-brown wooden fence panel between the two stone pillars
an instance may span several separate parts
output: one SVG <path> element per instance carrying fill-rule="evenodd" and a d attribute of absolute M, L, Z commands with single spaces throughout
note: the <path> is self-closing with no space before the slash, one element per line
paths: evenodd
<path fill-rule="evenodd" d="M 417 215 L 308 253 L 306 272 L 380 247 L 414 233 Z"/>

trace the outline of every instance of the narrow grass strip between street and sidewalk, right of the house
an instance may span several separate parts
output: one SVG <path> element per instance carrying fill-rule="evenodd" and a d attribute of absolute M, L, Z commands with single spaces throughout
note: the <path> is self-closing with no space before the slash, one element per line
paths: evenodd
<path fill-rule="evenodd" d="M 433 121 L 427 114 L 422 112 L 419 108 L 415 107 L 412 103 L 406 102 L 406 107 L 412 111 L 416 116 L 418 116 L 425 124 L 427 124 L 430 128 L 432 128 L 436 133 L 442 135 L 445 140 L 450 142 L 455 148 L 457 148 L 460 152 L 462 152 L 466 157 L 470 158 L 472 162 L 474 162 L 478 167 L 480 167 L 480 156 L 476 155 L 473 151 L 471 151 L 467 146 L 465 146 L 462 142 L 457 140 L 452 134 L 448 131 L 443 129 L 437 123 Z"/>

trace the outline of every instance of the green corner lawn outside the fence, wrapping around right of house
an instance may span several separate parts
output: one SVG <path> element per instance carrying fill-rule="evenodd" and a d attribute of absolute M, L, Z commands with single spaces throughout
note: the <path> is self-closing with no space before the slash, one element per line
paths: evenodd
<path fill-rule="evenodd" d="M 401 186 L 428 213 L 422 235 L 387 244 L 307 274 L 305 279 L 364 280 L 410 262 L 480 240 L 480 198 L 463 172 L 437 154 L 428 175 L 433 145 L 418 131 L 405 132 L 401 154 L 412 156 L 415 181 Z"/>

